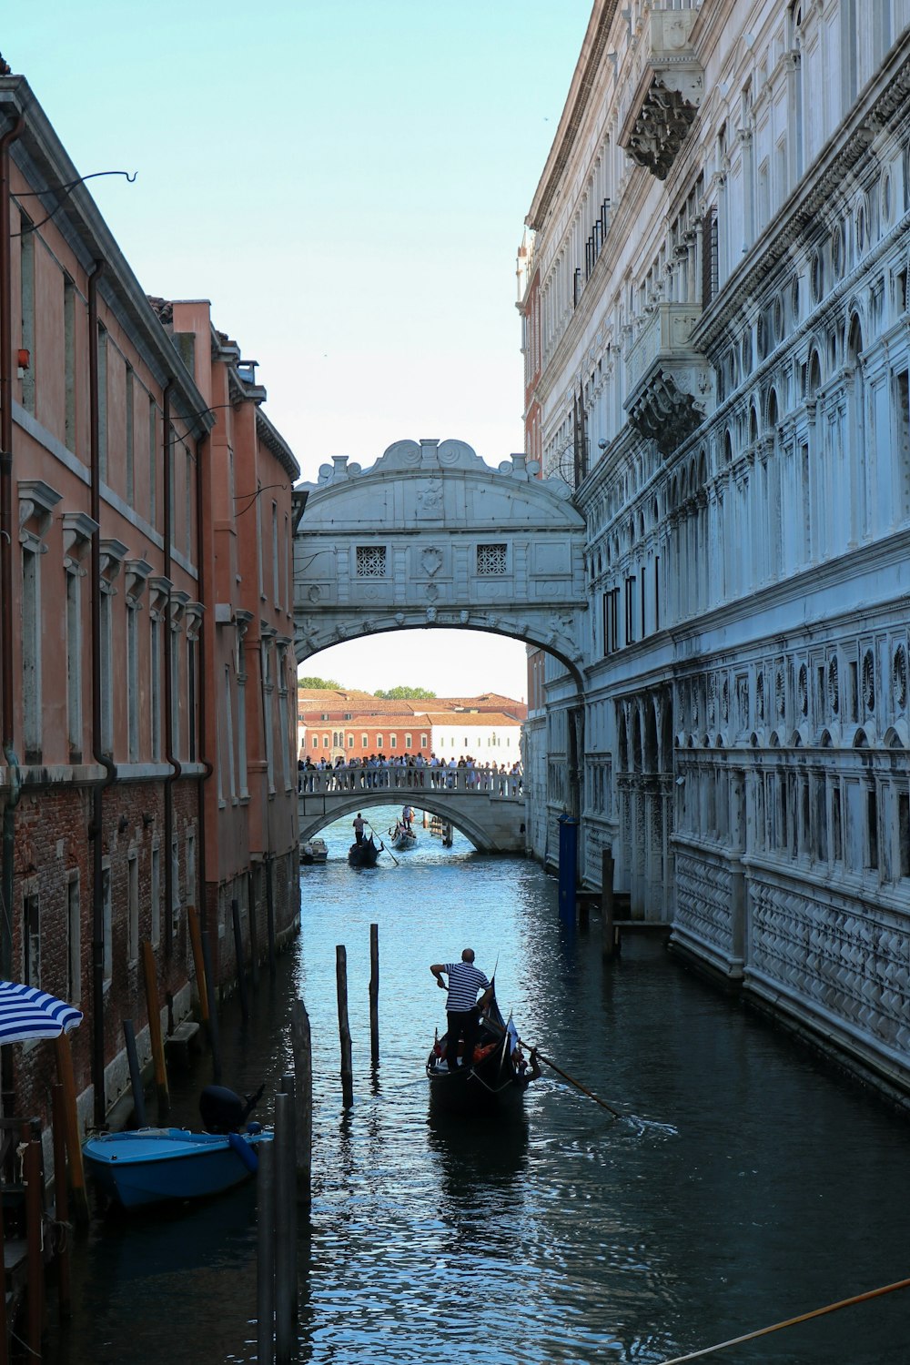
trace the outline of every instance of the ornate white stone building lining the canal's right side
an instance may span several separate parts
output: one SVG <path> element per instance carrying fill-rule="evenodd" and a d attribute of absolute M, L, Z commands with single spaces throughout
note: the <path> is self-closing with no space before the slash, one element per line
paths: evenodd
<path fill-rule="evenodd" d="M 520 273 L 589 606 L 584 693 L 550 658 L 525 732 L 533 849 L 576 809 L 588 882 L 611 848 L 633 916 L 903 1092 L 909 26 L 595 0 Z"/>

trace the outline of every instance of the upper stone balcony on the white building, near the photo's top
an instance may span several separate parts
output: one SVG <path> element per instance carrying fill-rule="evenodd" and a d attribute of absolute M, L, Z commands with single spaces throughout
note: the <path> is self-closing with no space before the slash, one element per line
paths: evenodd
<path fill-rule="evenodd" d="M 697 8 L 649 15 L 641 75 L 617 139 L 659 180 L 666 180 L 704 93 L 704 72 L 690 44 L 697 18 Z"/>

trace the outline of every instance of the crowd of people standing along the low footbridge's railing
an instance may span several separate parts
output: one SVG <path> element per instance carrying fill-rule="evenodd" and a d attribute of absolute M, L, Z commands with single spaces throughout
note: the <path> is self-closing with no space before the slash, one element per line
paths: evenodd
<path fill-rule="evenodd" d="M 329 774 L 327 781 L 322 774 Z M 461 774 L 461 777 L 460 777 Z M 302 758 L 297 762 L 297 790 L 300 793 L 319 790 L 370 792 L 381 788 L 407 788 L 409 790 L 468 790 L 487 792 L 491 796 L 521 796 L 521 763 L 478 763 L 471 755 L 460 759 L 443 759 L 431 753 L 385 755 L 371 753 L 366 759 L 344 759 L 334 762 Z"/>

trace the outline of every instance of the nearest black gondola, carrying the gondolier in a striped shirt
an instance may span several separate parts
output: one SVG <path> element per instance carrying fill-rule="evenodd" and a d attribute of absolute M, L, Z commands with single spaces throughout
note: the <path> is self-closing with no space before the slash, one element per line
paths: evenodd
<path fill-rule="evenodd" d="M 461 1059 L 464 1063 L 464 1058 Z M 512 1016 L 505 1021 L 495 995 L 480 1017 L 473 1063 L 449 1070 L 445 1036 L 438 1035 L 427 1058 L 431 1103 L 449 1112 L 509 1112 L 521 1108 L 524 1092 L 540 1072 L 529 1065 Z"/>

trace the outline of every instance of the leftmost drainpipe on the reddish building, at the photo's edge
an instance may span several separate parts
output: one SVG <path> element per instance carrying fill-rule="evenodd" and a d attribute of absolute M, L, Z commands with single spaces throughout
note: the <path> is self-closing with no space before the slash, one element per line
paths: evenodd
<path fill-rule="evenodd" d="M 3 759 L 7 764 L 8 792 L 3 804 L 3 853 L 0 893 L 7 913 L 0 925 L 0 976 L 12 976 L 12 883 L 15 871 L 15 823 L 19 804 L 19 759 L 15 752 L 12 698 L 12 242 L 10 238 L 10 146 L 25 127 L 16 123 L 0 138 L 0 689 Z M 0 1087 L 12 1081 L 11 1048 L 3 1054 Z"/>

